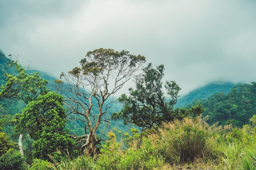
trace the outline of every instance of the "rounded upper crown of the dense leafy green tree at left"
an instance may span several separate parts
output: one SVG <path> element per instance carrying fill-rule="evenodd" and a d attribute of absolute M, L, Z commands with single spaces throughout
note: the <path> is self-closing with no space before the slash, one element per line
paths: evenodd
<path fill-rule="evenodd" d="M 65 117 L 63 97 L 55 92 L 49 92 L 29 102 L 23 113 L 15 115 L 13 121 L 17 130 L 26 129 L 31 138 L 37 140 L 43 128 L 52 132 L 63 131 Z"/>

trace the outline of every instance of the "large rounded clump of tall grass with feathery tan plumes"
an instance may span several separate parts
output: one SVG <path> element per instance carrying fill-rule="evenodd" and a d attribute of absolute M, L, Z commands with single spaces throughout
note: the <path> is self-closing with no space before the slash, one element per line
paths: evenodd
<path fill-rule="evenodd" d="M 210 134 L 198 117 L 166 124 L 162 131 L 162 152 L 171 163 L 193 162 L 211 155 Z"/>

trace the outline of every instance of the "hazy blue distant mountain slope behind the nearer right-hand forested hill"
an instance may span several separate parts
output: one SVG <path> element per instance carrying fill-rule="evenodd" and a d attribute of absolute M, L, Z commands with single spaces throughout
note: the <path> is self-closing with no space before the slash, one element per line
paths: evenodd
<path fill-rule="evenodd" d="M 217 93 L 224 93 L 227 94 L 230 89 L 235 86 L 236 84 L 230 82 L 212 82 L 203 87 L 197 88 L 189 94 L 181 96 L 178 98 L 175 107 L 183 108 L 186 107 L 188 104 L 192 104 L 195 99 L 208 99 L 211 95 Z"/>

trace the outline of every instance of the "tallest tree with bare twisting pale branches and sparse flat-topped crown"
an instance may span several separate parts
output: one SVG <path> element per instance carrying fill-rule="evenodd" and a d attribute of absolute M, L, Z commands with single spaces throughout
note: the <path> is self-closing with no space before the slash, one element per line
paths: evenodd
<path fill-rule="evenodd" d="M 128 51 L 96 49 L 85 55 L 80 61 L 81 67 L 61 74 L 68 84 L 66 90 L 70 97 L 64 100 L 67 109 L 72 115 L 80 115 L 84 124 L 85 135 L 73 136 L 79 139 L 81 154 L 86 147 L 90 155 L 94 154 L 95 146 L 102 140 L 97 139 L 96 130 L 102 121 L 107 121 L 103 115 L 114 102 L 110 98 L 141 69 L 145 61 L 144 56 L 131 55 Z"/>

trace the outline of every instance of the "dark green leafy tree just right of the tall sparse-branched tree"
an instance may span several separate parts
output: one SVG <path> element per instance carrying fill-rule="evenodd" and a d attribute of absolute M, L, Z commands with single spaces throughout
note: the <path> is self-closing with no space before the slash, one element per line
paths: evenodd
<path fill-rule="evenodd" d="M 124 124 L 132 123 L 140 126 L 142 132 L 155 125 L 160 125 L 162 121 L 172 121 L 182 119 L 188 114 L 186 109 L 173 110 L 177 102 L 178 93 L 181 88 L 175 81 L 166 81 L 164 87 L 170 99 L 164 97 L 163 82 L 164 65 L 153 68 L 149 63 L 143 69 L 141 77 L 136 79 L 136 89 L 129 88 L 130 96 L 122 94 L 119 102 L 123 108 L 119 113 L 113 113 L 115 119 L 123 119 Z"/>

